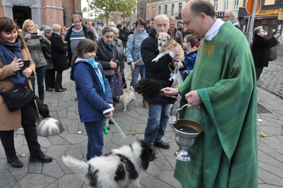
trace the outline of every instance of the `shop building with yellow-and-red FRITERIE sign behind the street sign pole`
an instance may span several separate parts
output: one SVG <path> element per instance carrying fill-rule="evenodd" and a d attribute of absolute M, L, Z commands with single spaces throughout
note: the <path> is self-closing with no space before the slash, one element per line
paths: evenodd
<path fill-rule="evenodd" d="M 239 21 L 245 32 L 248 31 L 247 24 L 249 14 L 245 9 L 246 0 L 239 2 Z M 283 0 L 261 0 L 261 8 L 255 16 L 253 29 L 262 26 L 265 37 L 270 38 L 277 32 L 282 35 L 283 28 Z"/>

